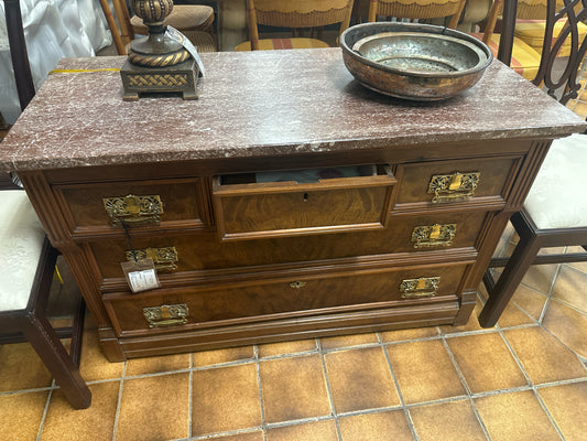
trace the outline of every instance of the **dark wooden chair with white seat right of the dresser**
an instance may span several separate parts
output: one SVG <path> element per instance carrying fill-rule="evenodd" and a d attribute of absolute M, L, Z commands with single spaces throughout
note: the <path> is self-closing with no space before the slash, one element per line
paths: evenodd
<path fill-rule="evenodd" d="M 583 35 L 579 39 L 577 24 L 579 20 L 587 18 L 587 6 L 583 3 L 583 7 L 577 8 L 577 0 L 564 0 L 564 8 L 558 9 L 555 1 L 548 0 L 547 3 L 541 64 L 533 83 L 544 84 L 544 89 L 551 96 L 559 99 L 562 104 L 567 104 L 580 89 L 577 75 L 587 51 L 587 37 Z M 558 32 L 557 39 L 553 40 L 555 23 L 564 18 L 567 25 Z M 510 40 L 502 44 L 512 44 L 514 21 L 510 23 Z M 566 40 L 570 40 L 572 44 L 568 56 L 558 57 L 559 62 L 564 62 L 564 66 L 561 66 L 555 60 Z M 507 54 L 508 50 L 503 52 Z M 504 266 L 497 282 L 489 272 L 483 278 L 489 299 L 479 315 L 481 326 L 490 327 L 497 323 L 531 265 L 587 260 L 587 252 L 537 255 L 544 247 L 583 246 L 586 249 L 585 170 L 587 135 L 577 133 L 553 141 L 523 208 L 511 217 L 520 236 L 511 258 L 491 260 L 490 267 Z"/>

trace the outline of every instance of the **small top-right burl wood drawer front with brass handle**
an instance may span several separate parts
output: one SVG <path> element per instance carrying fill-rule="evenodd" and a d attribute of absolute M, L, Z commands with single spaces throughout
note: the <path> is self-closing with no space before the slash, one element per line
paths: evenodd
<path fill-rule="evenodd" d="M 519 162 L 518 157 L 512 157 L 398 165 L 400 183 L 393 209 L 503 202 Z"/>

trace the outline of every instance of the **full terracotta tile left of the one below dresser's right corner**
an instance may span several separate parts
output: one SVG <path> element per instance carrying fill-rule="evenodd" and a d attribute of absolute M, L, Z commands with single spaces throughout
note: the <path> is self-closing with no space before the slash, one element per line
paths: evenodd
<path fill-rule="evenodd" d="M 439 340 L 387 346 L 405 404 L 465 395 L 465 388 Z"/>

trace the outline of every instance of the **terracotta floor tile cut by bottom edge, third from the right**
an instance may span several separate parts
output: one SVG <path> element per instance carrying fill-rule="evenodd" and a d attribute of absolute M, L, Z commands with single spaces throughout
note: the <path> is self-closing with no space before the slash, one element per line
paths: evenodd
<path fill-rule="evenodd" d="M 420 441 L 485 441 L 486 435 L 469 400 L 410 408 Z"/>

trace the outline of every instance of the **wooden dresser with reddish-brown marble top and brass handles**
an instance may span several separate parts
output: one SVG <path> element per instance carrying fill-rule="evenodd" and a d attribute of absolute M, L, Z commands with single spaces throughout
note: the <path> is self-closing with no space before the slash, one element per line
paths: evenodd
<path fill-rule="evenodd" d="M 498 62 L 409 103 L 338 49 L 203 60 L 198 100 L 137 103 L 123 57 L 62 61 L 0 149 L 111 361 L 464 324 L 551 140 L 584 128 Z M 161 288 L 131 293 L 135 256 Z"/>

